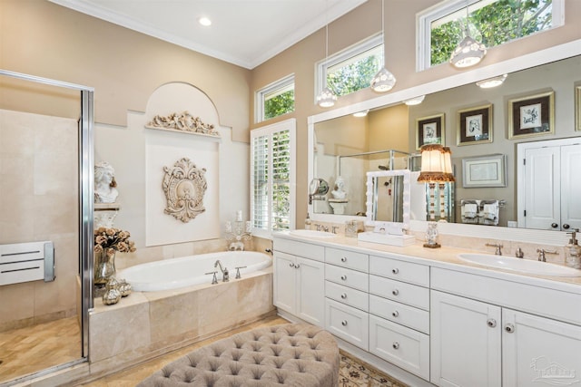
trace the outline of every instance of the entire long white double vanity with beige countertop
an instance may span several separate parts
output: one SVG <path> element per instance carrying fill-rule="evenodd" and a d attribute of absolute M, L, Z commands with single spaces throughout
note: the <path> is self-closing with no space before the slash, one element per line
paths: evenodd
<path fill-rule="evenodd" d="M 531 367 L 541 355 L 578 374 L 581 277 L 471 265 L 458 258 L 468 252 L 475 251 L 281 233 L 274 239 L 274 304 L 294 321 L 310 310 L 310 321 L 320 320 L 315 324 L 324 324 L 343 349 L 411 385 L 537 385 L 538 375 L 544 382 L 552 377 L 540 361 Z M 301 302 L 304 285 L 285 292 L 288 286 L 277 283 L 292 259 L 301 268 L 318 267 L 309 288 L 324 286 L 322 295 Z M 316 308 L 309 306 L 321 303 L 324 313 L 312 315 Z"/>

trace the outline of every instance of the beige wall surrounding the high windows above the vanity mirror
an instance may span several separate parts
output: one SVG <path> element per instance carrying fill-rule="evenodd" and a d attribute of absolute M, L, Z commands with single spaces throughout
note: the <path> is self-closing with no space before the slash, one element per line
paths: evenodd
<path fill-rule="evenodd" d="M 404 90 L 459 73 L 448 64 L 442 64 L 421 73 L 416 72 L 416 14 L 439 2 L 440 0 L 385 1 L 386 66 L 398 79 L 393 91 Z M 483 64 L 502 62 L 517 55 L 533 53 L 540 49 L 581 38 L 581 29 L 576 21 L 576 15 L 581 15 L 581 2 L 565 0 L 565 5 L 566 24 L 564 26 L 501 47 L 491 48 L 488 50 Z M 369 0 L 349 14 L 330 23 L 329 53 L 336 53 L 371 34 L 380 32 L 380 14 L 381 2 Z M 315 63 L 324 59 L 324 55 L 325 30 L 321 29 L 268 62 L 256 67 L 251 73 L 251 91 L 256 91 L 290 73 L 295 75 L 295 111 L 278 120 L 289 116 L 297 119 L 297 224 L 299 225 L 301 219 L 306 217 L 307 212 L 307 119 L 311 115 L 325 111 L 314 102 Z M 466 72 L 478 72 L 478 67 Z M 369 89 L 354 92 L 340 97 L 333 109 L 355 102 L 367 101 L 378 96 L 379 94 Z M 251 106 L 251 129 L 271 123 L 271 121 L 256 123 L 252 109 Z M 277 119 L 272 121 L 277 121 Z M 410 136 L 412 134 L 409 133 Z"/>

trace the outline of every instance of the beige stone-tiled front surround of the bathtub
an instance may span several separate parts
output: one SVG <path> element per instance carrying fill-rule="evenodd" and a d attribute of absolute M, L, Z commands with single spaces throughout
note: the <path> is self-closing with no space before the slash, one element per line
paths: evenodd
<path fill-rule="evenodd" d="M 115 372 L 274 310 L 272 267 L 241 279 L 159 292 L 133 292 L 119 304 L 95 299 L 89 315 L 91 375 Z"/>

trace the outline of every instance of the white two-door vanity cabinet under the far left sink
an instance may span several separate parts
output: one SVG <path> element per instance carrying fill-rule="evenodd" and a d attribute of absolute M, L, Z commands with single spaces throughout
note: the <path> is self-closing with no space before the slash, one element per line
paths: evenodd
<path fill-rule="evenodd" d="M 274 305 L 325 326 L 324 247 L 274 239 Z"/>

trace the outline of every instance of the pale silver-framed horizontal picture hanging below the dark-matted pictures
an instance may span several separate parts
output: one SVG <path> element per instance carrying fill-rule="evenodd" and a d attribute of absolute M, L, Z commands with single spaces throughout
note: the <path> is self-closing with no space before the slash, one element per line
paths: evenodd
<path fill-rule="evenodd" d="M 507 155 L 493 154 L 462 159 L 462 187 L 507 187 Z"/>

